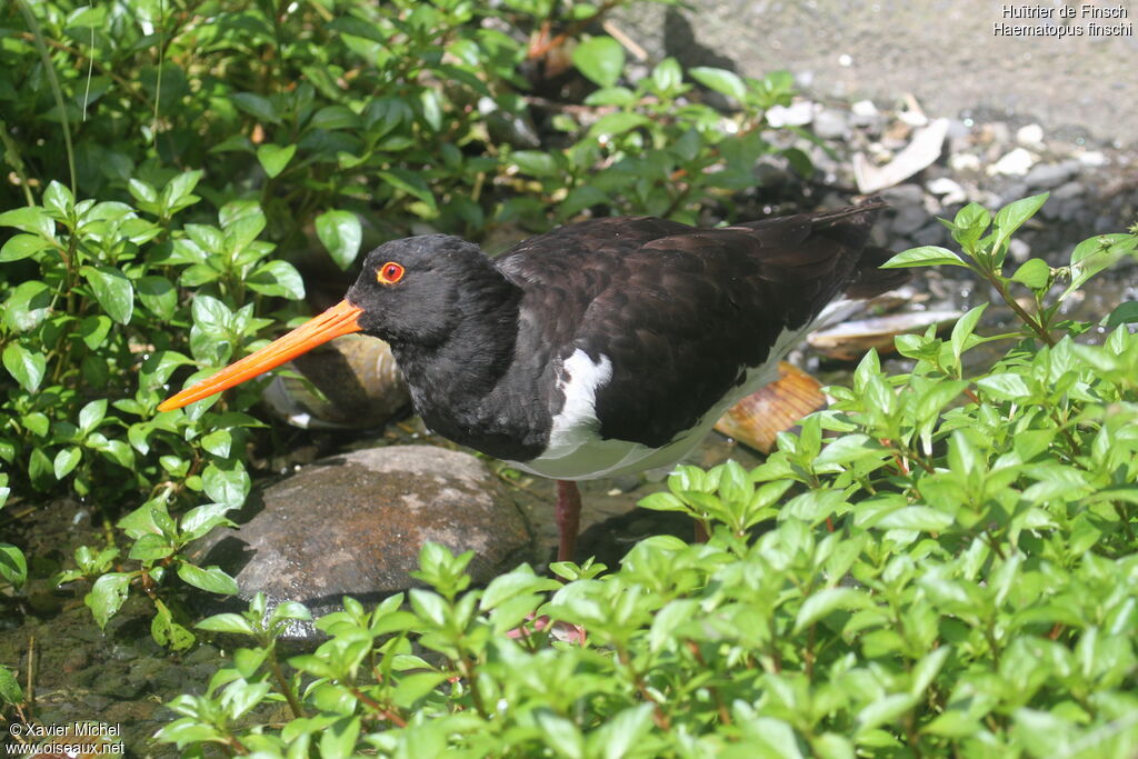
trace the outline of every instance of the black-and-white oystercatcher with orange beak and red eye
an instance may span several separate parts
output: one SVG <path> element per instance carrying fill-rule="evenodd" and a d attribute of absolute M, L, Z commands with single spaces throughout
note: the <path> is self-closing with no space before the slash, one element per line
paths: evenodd
<path fill-rule="evenodd" d="M 558 480 L 572 556 L 576 480 L 679 461 L 840 295 L 896 286 L 867 248 L 884 204 L 696 229 L 595 218 L 497 258 L 446 234 L 386 242 L 338 305 L 162 403 L 168 411 L 361 331 L 387 340 L 432 431 Z"/>

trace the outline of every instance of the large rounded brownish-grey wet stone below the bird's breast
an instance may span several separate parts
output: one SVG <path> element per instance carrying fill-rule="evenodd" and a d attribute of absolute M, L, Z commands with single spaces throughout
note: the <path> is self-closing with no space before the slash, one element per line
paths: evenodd
<path fill-rule="evenodd" d="M 215 530 L 196 552 L 205 554 L 199 562 L 221 564 L 245 599 L 263 592 L 271 607 L 300 601 L 314 616 L 344 595 L 376 601 L 421 585 L 410 572 L 427 542 L 473 551 L 475 583 L 530 548 L 525 518 L 481 461 L 426 445 L 321 460 L 250 497 L 246 509 L 256 513 L 237 529 Z"/>

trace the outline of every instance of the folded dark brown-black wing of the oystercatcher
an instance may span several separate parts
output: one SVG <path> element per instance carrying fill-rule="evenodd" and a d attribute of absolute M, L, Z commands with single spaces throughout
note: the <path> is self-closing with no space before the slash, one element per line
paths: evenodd
<path fill-rule="evenodd" d="M 601 436 L 655 447 L 693 427 L 857 281 L 874 216 L 687 230 L 610 258 L 572 340 L 612 362 L 596 394 Z"/>

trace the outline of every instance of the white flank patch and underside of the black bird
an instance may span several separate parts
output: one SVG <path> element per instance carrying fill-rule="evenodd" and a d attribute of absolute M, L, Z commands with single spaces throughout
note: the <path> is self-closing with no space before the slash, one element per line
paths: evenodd
<path fill-rule="evenodd" d="M 558 379 L 558 387 L 564 393 L 566 403 L 553 418 L 549 447 L 533 461 L 512 463 L 534 475 L 562 480 L 600 479 L 670 467 L 682 461 L 736 401 L 774 381 L 778 377 L 778 362 L 811 329 L 813 324 L 807 324 L 800 330 L 787 330 L 780 335 L 761 365 L 748 370 L 745 379 L 709 409 L 691 430 L 679 432 L 661 448 L 650 448 L 628 440 L 601 439 L 601 423 L 596 419 L 596 393 L 612 379 L 612 362 L 602 355 L 594 363 L 578 348 L 564 362 L 564 371 Z"/>

